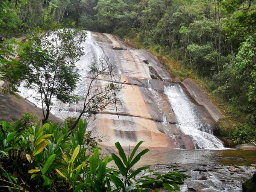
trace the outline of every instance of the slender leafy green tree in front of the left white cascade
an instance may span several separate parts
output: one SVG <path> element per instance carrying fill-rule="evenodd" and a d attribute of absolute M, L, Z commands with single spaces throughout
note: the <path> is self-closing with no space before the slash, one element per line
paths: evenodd
<path fill-rule="evenodd" d="M 48 119 L 54 100 L 78 101 L 78 96 L 72 94 L 79 79 L 74 68 L 84 54 L 81 43 L 85 37 L 84 31 L 64 28 L 49 31 L 42 38 L 36 36 L 34 41 L 23 44 L 19 63 L 27 68 L 25 87 L 37 91 L 40 96 L 36 99 L 41 101 L 43 121 Z"/>

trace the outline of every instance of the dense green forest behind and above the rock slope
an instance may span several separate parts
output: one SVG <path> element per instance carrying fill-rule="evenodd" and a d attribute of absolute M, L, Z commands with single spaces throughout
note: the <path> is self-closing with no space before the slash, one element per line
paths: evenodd
<path fill-rule="evenodd" d="M 256 141 L 254 0 L 0 0 L 0 35 L 75 24 L 132 38 L 180 63 L 172 75 L 203 79 L 227 103 L 236 143 Z"/>

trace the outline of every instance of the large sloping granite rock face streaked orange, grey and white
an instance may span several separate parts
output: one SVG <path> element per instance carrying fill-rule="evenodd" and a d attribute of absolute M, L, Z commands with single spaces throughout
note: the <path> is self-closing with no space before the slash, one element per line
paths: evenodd
<path fill-rule="evenodd" d="M 123 82 L 117 95 L 120 119 L 115 110 L 108 109 L 92 114 L 88 120 L 93 133 L 105 138 L 103 145 L 113 146 L 119 141 L 122 146 L 134 146 L 144 140 L 145 147 L 194 149 L 193 138 L 190 133 L 181 131 L 177 114 L 165 94 L 166 87 L 172 84 L 181 85 L 200 111 L 203 122 L 211 129 L 215 129 L 216 122 L 222 118 L 218 109 L 207 100 L 196 84 L 189 79 L 184 82 L 172 79 L 157 57 L 146 50 L 135 49 L 115 35 L 98 32 L 87 32 L 83 46 L 85 55 L 75 69 L 81 75 L 76 94 L 82 96 L 86 93 L 90 78 L 88 66 L 93 59 L 107 58 L 120 82 Z M 109 80 L 101 76 L 98 79 L 101 85 Z M 21 96 L 29 99 L 28 91 L 22 87 L 20 90 Z M 78 116 L 81 110 L 82 102 L 71 106 L 56 103 L 52 113 L 65 119 Z"/>

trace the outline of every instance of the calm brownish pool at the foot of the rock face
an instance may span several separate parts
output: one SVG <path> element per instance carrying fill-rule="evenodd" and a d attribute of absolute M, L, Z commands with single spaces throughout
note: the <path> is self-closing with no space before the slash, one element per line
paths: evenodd
<path fill-rule="evenodd" d="M 114 147 L 105 147 L 110 153 L 117 153 Z M 221 164 L 221 165 L 252 165 L 256 164 L 256 151 L 247 150 L 212 150 L 212 149 L 166 149 L 149 148 L 137 166 L 177 164 Z M 132 148 L 131 148 L 132 150 Z M 143 148 L 140 149 L 140 151 Z M 105 151 L 106 152 L 106 151 Z M 128 154 L 128 148 L 125 148 Z M 138 151 L 139 152 L 139 151 Z"/>

